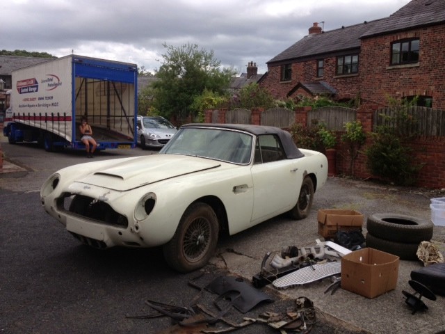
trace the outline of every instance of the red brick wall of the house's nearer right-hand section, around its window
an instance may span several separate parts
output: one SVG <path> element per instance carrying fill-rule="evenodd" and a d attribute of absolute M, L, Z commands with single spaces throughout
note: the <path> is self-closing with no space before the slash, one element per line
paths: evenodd
<path fill-rule="evenodd" d="M 419 38 L 419 65 L 390 66 L 391 42 Z M 445 24 L 362 40 L 362 101 L 387 105 L 387 96 L 432 96 L 433 108 L 445 109 Z"/>

